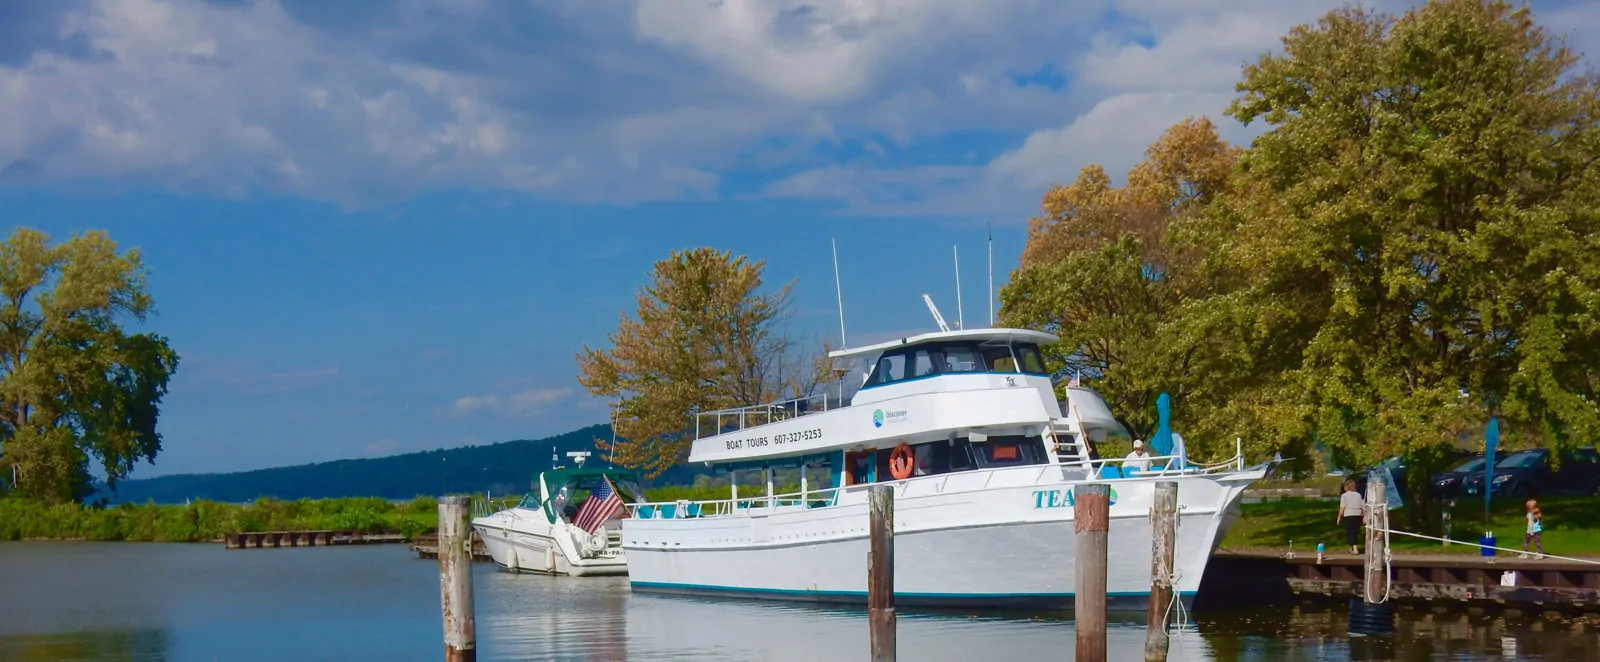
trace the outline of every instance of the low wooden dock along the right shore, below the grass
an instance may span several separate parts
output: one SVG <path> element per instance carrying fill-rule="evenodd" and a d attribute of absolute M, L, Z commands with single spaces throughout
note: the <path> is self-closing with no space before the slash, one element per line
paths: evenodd
<path fill-rule="evenodd" d="M 1274 550 L 1218 550 L 1213 560 L 1243 561 L 1251 572 L 1282 577 L 1299 596 L 1362 595 L 1357 555 L 1323 555 L 1317 563 L 1314 552 L 1291 556 Z M 1432 606 L 1600 611 L 1600 560 L 1595 561 L 1397 553 L 1389 563 L 1389 598 Z"/>

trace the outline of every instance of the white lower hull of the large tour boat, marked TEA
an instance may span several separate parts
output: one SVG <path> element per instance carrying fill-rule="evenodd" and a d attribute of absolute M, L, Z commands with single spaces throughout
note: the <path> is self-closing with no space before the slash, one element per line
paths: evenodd
<path fill-rule="evenodd" d="M 1120 499 L 1110 508 L 1109 609 L 1142 611 L 1149 606 L 1149 505 L 1154 485 L 1146 480 L 1112 481 Z M 1197 477 L 1179 478 L 1179 485 L 1182 515 L 1176 540 L 1176 587 L 1181 600 L 1192 601 L 1206 561 L 1226 532 L 1229 507 L 1248 480 Z M 896 604 L 1070 609 L 1077 545 L 1072 508 L 1062 504 L 1066 489 L 1061 488 L 1070 486 L 898 496 Z M 1056 505 L 1051 505 L 1053 500 Z M 990 521 L 971 516 L 982 512 L 995 516 Z M 766 516 L 627 521 L 624 548 L 629 579 L 635 592 L 650 593 L 866 603 L 866 523 L 864 504 L 774 510 Z M 752 542 L 741 544 L 741 524 L 762 531 L 744 536 Z M 766 542 L 754 542 L 757 537 Z"/>

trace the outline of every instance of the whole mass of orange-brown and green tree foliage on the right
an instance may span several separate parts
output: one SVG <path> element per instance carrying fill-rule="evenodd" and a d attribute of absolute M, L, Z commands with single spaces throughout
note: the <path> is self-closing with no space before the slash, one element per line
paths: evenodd
<path fill-rule="evenodd" d="M 1123 189 L 1086 168 L 1045 195 L 1008 321 L 1059 333 L 1136 429 L 1165 390 L 1190 449 L 1406 456 L 1411 496 L 1491 416 L 1594 443 L 1600 82 L 1576 64 L 1504 2 L 1296 27 L 1238 83 L 1229 115 L 1267 125 L 1246 150 L 1189 122 Z"/>

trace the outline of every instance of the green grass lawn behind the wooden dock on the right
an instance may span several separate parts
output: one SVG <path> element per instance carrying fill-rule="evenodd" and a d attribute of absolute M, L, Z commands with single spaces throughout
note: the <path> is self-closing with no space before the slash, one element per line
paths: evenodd
<path fill-rule="evenodd" d="M 1562 556 L 1600 556 L 1600 499 L 1550 497 L 1539 499 L 1544 510 L 1544 552 Z M 1234 523 L 1222 547 L 1229 548 L 1288 548 L 1314 550 L 1318 542 L 1330 552 L 1344 547 L 1344 529 L 1334 524 L 1338 504 L 1331 500 L 1283 499 L 1261 504 L 1243 504 L 1245 515 Z M 1400 510 L 1390 513 L 1394 528 L 1403 529 Z M 1498 547 L 1522 548 L 1525 529 L 1523 505 L 1517 499 L 1493 502 L 1490 531 L 1494 531 Z M 1462 499 L 1453 510 L 1451 539 L 1477 542 L 1483 534 L 1483 500 Z M 1390 536 L 1395 552 L 1427 553 L 1478 553 L 1477 547 L 1450 545 L 1410 536 Z"/>

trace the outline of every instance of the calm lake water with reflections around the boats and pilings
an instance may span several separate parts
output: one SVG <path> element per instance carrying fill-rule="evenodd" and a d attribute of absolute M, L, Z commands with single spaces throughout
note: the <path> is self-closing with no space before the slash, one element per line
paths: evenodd
<path fill-rule="evenodd" d="M 854 660 L 864 612 L 637 596 L 626 579 L 512 576 L 475 564 L 483 660 Z M 1568 624 L 1405 616 L 1350 641 L 1344 614 L 1203 611 L 1174 660 L 1594 660 Z M 400 545 L 0 544 L 0 660 L 438 660 L 438 564 Z M 1059 617 L 901 614 L 902 660 L 1072 659 Z M 1110 659 L 1144 625 L 1114 622 Z"/>

